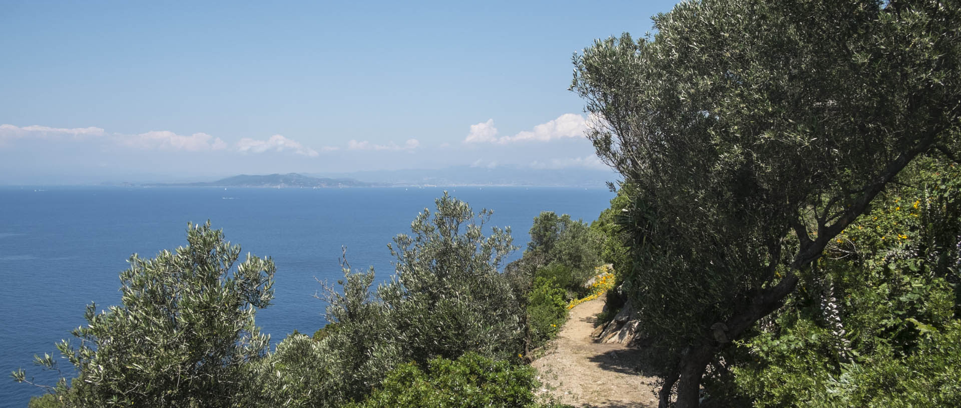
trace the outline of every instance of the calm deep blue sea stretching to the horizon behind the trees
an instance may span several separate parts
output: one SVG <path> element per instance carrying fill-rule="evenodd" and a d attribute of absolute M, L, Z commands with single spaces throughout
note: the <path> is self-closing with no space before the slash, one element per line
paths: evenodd
<path fill-rule="evenodd" d="M 244 253 L 273 257 L 275 301 L 257 322 L 275 344 L 294 329 L 312 333 L 326 323 L 314 278 L 341 276 L 341 246 L 355 268 L 373 265 L 379 279 L 388 277 L 386 244 L 409 233 L 410 221 L 443 190 L 0 188 L 0 374 L 23 367 L 52 385 L 56 376 L 34 367 L 34 354 L 56 353 L 55 343 L 84 323 L 87 304 L 119 304 L 117 275 L 130 255 L 184 245 L 187 221 L 209 219 Z M 446 190 L 476 212 L 493 209 L 491 224 L 512 227 L 522 248 L 541 211 L 590 221 L 613 197 L 604 189 Z M 41 393 L 0 377 L 0 407 L 25 407 Z"/>

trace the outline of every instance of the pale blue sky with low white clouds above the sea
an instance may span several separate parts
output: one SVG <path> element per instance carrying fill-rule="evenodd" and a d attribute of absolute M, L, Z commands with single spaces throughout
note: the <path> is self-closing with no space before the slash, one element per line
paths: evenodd
<path fill-rule="evenodd" d="M 571 56 L 673 3 L 5 1 L 0 183 L 599 169 Z"/>

